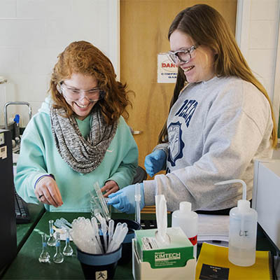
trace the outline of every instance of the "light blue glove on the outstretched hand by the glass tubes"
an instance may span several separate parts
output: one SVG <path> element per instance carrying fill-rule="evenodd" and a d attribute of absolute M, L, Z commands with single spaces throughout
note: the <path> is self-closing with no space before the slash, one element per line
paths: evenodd
<path fill-rule="evenodd" d="M 140 208 L 143 209 L 145 206 L 145 198 L 144 198 L 144 185 L 140 183 L 140 193 L 141 193 L 141 201 Z M 125 212 L 127 214 L 132 214 L 135 212 L 135 185 L 130 185 L 121 190 L 118 190 L 116 193 L 111 193 L 109 195 L 109 205 L 113 205 L 116 209 L 121 212 Z"/>

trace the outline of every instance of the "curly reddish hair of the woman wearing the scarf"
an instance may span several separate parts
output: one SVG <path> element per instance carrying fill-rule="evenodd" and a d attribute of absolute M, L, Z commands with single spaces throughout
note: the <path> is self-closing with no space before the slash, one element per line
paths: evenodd
<path fill-rule="evenodd" d="M 86 41 L 70 43 L 65 50 L 58 55 L 58 61 L 52 71 L 50 79 L 50 94 L 55 108 L 64 108 L 66 117 L 73 115 L 71 106 L 59 93 L 59 85 L 72 73 L 83 73 L 95 76 L 98 87 L 104 90 L 104 98 L 95 106 L 100 106 L 106 123 L 111 124 L 118 120 L 121 115 L 128 118 L 127 105 L 132 105 L 127 90 L 127 85 L 116 80 L 116 73 L 110 59 L 101 50 Z"/>

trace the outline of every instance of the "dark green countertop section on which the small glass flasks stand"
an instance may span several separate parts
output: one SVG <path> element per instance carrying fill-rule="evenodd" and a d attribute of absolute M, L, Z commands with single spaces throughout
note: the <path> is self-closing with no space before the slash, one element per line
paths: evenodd
<path fill-rule="evenodd" d="M 76 246 L 73 242 L 71 242 L 74 251 L 73 255 L 71 257 L 64 256 L 64 262 L 61 264 L 52 262 L 55 247 L 49 246 L 50 263 L 43 264 L 38 261 L 42 250 L 41 232 L 49 234 L 48 221 L 50 219 L 55 221 L 57 218 L 63 217 L 71 223 L 74 218 L 78 218 L 79 216 L 90 218 L 89 213 L 45 212 L 24 246 L 22 246 L 17 258 L 10 265 L 6 274 L 3 275 L 3 279 L 84 279 L 80 262 L 76 258 Z M 144 216 L 146 219 L 155 219 L 154 214 L 145 214 Z M 112 214 L 112 218 L 134 219 L 134 215 L 114 213 Z M 63 250 L 64 245 L 65 241 L 61 241 L 61 250 Z M 114 279 L 133 279 L 132 260 L 126 265 L 118 265 Z"/>

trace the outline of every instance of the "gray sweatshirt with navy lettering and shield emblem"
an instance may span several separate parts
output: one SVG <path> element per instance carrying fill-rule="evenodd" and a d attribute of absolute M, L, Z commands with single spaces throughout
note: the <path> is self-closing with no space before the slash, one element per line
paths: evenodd
<path fill-rule="evenodd" d="M 167 175 L 144 181 L 145 204 L 165 195 L 167 209 L 181 201 L 193 210 L 235 207 L 242 186 L 214 183 L 241 179 L 252 198 L 253 161 L 271 158 L 272 116 L 269 102 L 254 85 L 240 78 L 217 78 L 189 84 L 179 95 L 167 120 Z"/>

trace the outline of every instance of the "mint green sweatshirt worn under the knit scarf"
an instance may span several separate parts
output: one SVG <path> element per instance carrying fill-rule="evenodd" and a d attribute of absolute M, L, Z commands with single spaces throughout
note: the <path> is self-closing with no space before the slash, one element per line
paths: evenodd
<path fill-rule="evenodd" d="M 26 202 L 38 204 L 34 186 L 43 174 L 55 176 L 63 202 L 62 206 L 57 208 L 45 204 L 48 211 L 89 212 L 89 192 L 95 182 L 102 187 L 106 181 L 113 180 L 120 188 L 132 183 L 138 166 L 138 148 L 123 117 L 118 120 L 116 135 L 102 163 L 93 172 L 81 174 L 73 171 L 57 152 L 49 112 L 50 99 L 47 98 L 38 113 L 31 118 L 22 135 L 15 188 Z M 78 121 L 78 127 L 84 137 L 90 130 L 88 119 Z M 86 122 L 88 125 L 85 125 Z"/>

